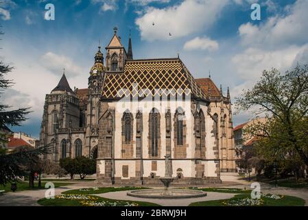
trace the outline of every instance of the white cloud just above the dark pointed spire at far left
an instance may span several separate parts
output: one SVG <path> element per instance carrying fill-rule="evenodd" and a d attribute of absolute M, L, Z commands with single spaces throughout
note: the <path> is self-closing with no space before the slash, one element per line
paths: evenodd
<path fill-rule="evenodd" d="M 65 75 L 67 76 L 74 77 L 82 74 L 82 67 L 71 61 L 71 58 L 53 52 L 47 52 L 41 56 L 40 62 L 49 72 L 57 76 L 62 75 L 63 68 L 65 68 Z"/>

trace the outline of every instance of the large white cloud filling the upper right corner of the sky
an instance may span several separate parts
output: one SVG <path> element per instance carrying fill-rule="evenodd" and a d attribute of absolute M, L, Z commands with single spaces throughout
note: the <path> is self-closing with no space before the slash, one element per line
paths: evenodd
<path fill-rule="evenodd" d="M 308 1 L 298 0 L 285 8 L 286 15 L 270 17 L 261 25 L 246 23 L 239 27 L 243 45 L 281 47 L 307 42 Z"/>

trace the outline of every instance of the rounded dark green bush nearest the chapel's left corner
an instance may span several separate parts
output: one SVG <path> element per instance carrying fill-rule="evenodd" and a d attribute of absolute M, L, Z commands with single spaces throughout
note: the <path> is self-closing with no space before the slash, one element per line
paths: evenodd
<path fill-rule="evenodd" d="M 80 175 L 80 179 L 84 179 L 86 175 L 92 175 L 96 172 L 96 162 L 95 159 L 90 159 L 87 157 L 76 157 L 76 173 Z"/>

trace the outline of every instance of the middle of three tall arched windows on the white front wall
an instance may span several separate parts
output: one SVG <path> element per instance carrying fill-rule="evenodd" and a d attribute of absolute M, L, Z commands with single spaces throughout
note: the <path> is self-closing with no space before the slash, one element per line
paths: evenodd
<path fill-rule="evenodd" d="M 150 113 L 151 156 L 158 157 L 159 113 L 152 109 Z"/>

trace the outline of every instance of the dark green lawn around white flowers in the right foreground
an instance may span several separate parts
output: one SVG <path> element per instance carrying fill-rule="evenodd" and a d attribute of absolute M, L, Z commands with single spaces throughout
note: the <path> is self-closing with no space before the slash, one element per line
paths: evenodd
<path fill-rule="evenodd" d="M 228 202 L 231 200 L 250 198 L 248 194 L 235 195 L 231 199 L 221 199 L 214 201 L 199 201 L 196 203 L 191 203 L 189 206 L 224 206 L 223 202 Z M 263 199 L 262 206 L 304 206 L 305 200 L 298 197 L 285 196 L 282 199 L 270 199 L 267 197 L 261 197 Z"/>

